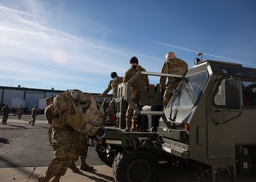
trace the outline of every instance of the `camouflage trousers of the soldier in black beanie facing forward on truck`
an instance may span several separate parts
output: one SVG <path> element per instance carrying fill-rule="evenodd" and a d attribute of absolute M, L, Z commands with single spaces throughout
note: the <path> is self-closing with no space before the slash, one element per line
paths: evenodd
<path fill-rule="evenodd" d="M 132 99 L 133 103 L 135 104 L 135 106 L 138 107 L 138 109 L 141 110 L 140 107 L 140 96 L 137 95 L 135 99 Z M 130 122 L 135 122 L 138 123 L 138 118 L 139 118 L 139 114 L 137 112 L 135 112 L 135 110 L 130 106 L 128 106 L 127 110 L 126 110 L 126 123 L 130 123 Z"/>

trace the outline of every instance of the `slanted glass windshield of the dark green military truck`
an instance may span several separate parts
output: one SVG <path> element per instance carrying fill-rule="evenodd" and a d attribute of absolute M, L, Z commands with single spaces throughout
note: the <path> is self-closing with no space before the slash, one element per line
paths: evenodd
<path fill-rule="evenodd" d="M 196 104 L 207 78 L 207 72 L 201 72 L 182 79 L 182 83 L 180 83 L 177 92 L 172 97 L 173 102 L 169 103 L 168 108 L 191 109 Z"/>

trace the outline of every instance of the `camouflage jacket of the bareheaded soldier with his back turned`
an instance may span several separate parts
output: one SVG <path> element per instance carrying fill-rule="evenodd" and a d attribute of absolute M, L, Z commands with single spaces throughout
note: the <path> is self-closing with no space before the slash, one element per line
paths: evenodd
<path fill-rule="evenodd" d="M 188 70 L 187 62 L 179 58 L 169 58 L 163 62 L 161 73 L 169 73 L 175 75 L 184 75 Z M 176 78 L 168 77 L 167 86 L 171 85 Z M 160 76 L 160 88 L 165 89 L 166 76 Z"/>

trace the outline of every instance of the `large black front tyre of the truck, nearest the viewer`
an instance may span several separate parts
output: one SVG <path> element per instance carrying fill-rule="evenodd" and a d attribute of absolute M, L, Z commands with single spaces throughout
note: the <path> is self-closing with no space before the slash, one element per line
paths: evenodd
<path fill-rule="evenodd" d="M 123 150 L 116 155 L 112 172 L 116 182 L 158 181 L 159 164 L 147 150 L 138 149 L 132 153 Z"/>

